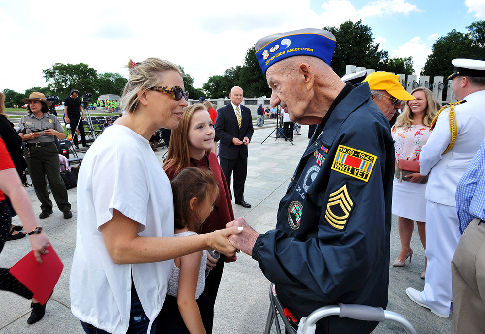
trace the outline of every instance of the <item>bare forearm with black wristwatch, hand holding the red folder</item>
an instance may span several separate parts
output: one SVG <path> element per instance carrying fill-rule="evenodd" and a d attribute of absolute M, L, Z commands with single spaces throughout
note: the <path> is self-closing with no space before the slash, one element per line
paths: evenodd
<path fill-rule="evenodd" d="M 0 170 L 0 189 L 10 198 L 12 206 L 27 232 L 31 232 L 39 226 L 29 195 L 22 186 L 15 168 Z M 29 235 L 29 239 L 35 259 L 38 263 L 42 263 L 40 252 L 49 246 L 49 238 L 46 234 L 40 233 Z"/>

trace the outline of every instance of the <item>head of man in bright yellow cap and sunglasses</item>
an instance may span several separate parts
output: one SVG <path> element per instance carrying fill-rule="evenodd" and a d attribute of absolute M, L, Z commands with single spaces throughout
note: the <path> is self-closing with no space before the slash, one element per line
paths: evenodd
<path fill-rule="evenodd" d="M 416 99 L 404 89 L 399 82 L 399 76 L 392 73 L 371 73 L 364 79 L 363 83 L 369 83 L 372 100 L 389 122 L 401 109 L 403 101 Z"/>

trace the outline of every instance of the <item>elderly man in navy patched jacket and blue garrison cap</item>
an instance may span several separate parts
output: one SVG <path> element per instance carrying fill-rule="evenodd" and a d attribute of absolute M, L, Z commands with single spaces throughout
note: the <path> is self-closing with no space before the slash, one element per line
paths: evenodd
<path fill-rule="evenodd" d="M 234 246 L 259 262 L 283 305 L 299 319 L 325 305 L 386 307 L 394 145 L 369 85 L 343 83 L 330 68 L 335 37 L 302 29 L 260 39 L 256 55 L 292 121 L 319 124 L 303 153 L 276 229 L 245 221 Z M 317 333 L 369 334 L 377 322 L 326 317 Z"/>

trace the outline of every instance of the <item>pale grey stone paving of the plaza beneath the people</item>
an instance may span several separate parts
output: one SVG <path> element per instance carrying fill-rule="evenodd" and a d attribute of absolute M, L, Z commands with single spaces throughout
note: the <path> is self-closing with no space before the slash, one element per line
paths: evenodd
<path fill-rule="evenodd" d="M 249 209 L 234 205 L 236 217 L 243 217 L 258 232 L 264 233 L 275 227 L 279 200 L 286 192 L 295 167 L 305 150 L 308 139 L 308 126 L 302 126 L 302 135 L 294 137 L 294 144 L 284 140 L 268 138 L 260 144 L 272 130 L 275 122 L 266 121 L 266 126 L 255 127 L 249 145 L 248 176 L 245 200 L 252 204 Z M 274 135 L 275 133 L 273 133 Z M 166 149 L 157 152 L 162 161 Z M 109 182 L 110 172 L 106 171 Z M 26 188 L 32 200 L 35 213 L 40 213 L 40 203 L 32 187 Z M 0 291 L 0 334 L 23 333 L 84 333 L 79 320 L 71 313 L 69 300 L 69 275 L 76 243 L 77 200 L 76 188 L 68 190 L 72 204 L 72 219 L 63 219 L 62 213 L 54 208 L 47 219 L 40 220 L 50 242 L 64 263 L 64 270 L 49 300 L 45 317 L 33 325 L 27 324 L 30 314 L 30 301 L 15 294 Z M 52 198 L 52 197 L 51 197 Z M 54 203 L 55 205 L 55 203 Z M 20 224 L 17 217 L 13 222 Z M 449 333 L 451 317 L 442 319 L 428 309 L 412 302 L 404 290 L 411 286 L 419 290 L 424 287 L 420 273 L 424 269 L 424 250 L 420 244 L 418 230 L 415 228 L 411 247 L 414 255 L 411 263 L 403 268 L 391 264 L 400 250 L 397 217 L 393 216 L 391 232 L 390 284 L 387 309 L 406 317 L 420 334 Z M 11 267 L 31 250 L 28 238 L 8 241 L 0 255 L 1 267 Z M 258 263 L 245 254 L 238 254 L 238 260 L 225 264 L 224 276 L 219 289 L 215 308 L 214 334 L 254 334 L 262 333 L 269 308 L 270 283 L 259 270 Z M 159 321 L 168 321 L 161 318 Z M 273 327 L 272 333 L 275 333 Z M 373 334 L 404 333 L 397 325 L 380 324 Z"/>

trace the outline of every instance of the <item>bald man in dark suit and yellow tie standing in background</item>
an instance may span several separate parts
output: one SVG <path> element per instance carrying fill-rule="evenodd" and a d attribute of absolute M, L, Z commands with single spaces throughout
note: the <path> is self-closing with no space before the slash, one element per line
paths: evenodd
<path fill-rule="evenodd" d="M 221 138 L 219 159 L 229 189 L 234 171 L 234 202 L 250 208 L 251 204 L 244 201 L 244 183 L 247 175 L 247 146 L 254 132 L 253 118 L 251 110 L 241 105 L 241 87 L 232 87 L 229 98 L 231 103 L 219 109 L 215 121 L 215 133 Z"/>

